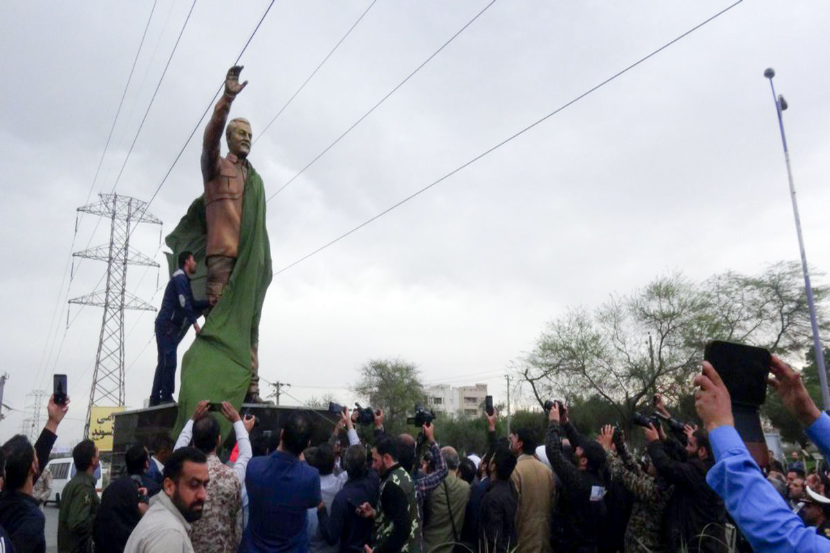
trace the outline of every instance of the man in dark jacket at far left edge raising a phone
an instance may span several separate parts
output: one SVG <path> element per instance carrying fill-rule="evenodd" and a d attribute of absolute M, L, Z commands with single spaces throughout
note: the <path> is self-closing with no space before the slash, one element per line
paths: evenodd
<path fill-rule="evenodd" d="M 32 497 L 32 488 L 41 473 L 42 466 L 51 453 L 57 439 L 57 427 L 69 410 L 69 399 L 63 405 L 49 398 L 49 420 L 34 447 L 26 436 L 18 434 L 3 444 L 6 456 L 6 479 L 0 496 L 0 526 L 6 529 L 17 553 L 44 553 L 46 517 Z"/>

